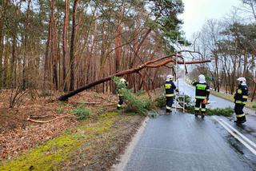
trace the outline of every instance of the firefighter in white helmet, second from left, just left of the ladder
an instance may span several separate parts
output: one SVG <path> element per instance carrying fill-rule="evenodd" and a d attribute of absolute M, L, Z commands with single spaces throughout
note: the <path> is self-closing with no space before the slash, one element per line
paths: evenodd
<path fill-rule="evenodd" d="M 166 84 L 165 84 L 165 88 L 166 88 L 166 114 L 171 113 L 171 106 L 174 103 L 174 89 L 175 89 L 175 91 L 178 92 L 178 89 L 176 88 L 176 85 L 174 85 L 173 78 L 174 78 L 174 76 L 167 75 Z"/>

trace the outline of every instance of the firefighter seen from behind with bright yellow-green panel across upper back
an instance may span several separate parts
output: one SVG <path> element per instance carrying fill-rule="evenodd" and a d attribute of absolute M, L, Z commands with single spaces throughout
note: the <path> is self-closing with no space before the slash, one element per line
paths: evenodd
<path fill-rule="evenodd" d="M 195 86 L 195 107 L 194 107 L 194 116 L 198 117 L 201 106 L 201 116 L 205 117 L 206 113 L 206 102 L 209 100 L 210 87 L 206 83 L 206 77 L 204 75 L 198 76 L 199 82 L 192 82 L 192 85 Z"/>

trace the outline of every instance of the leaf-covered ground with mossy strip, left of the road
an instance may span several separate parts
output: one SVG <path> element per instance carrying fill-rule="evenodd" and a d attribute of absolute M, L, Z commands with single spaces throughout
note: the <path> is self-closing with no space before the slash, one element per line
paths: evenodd
<path fill-rule="evenodd" d="M 14 109 L 8 94 L 0 93 L 0 170 L 110 169 L 145 118 L 117 111 L 113 94 L 84 92 L 68 102 L 54 100 L 58 93 L 24 96 Z M 72 114 L 81 104 L 90 111 L 83 121 Z M 62 118 L 36 123 L 31 116 Z"/>

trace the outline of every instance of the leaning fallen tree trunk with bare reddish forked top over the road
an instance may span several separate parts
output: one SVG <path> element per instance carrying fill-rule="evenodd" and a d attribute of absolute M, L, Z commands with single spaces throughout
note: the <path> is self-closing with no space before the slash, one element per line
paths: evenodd
<path fill-rule="evenodd" d="M 189 52 L 189 53 L 199 54 L 198 52 L 192 52 L 192 51 L 188 51 L 188 50 L 180 51 L 180 52 L 178 52 L 178 54 L 181 54 L 182 52 Z M 177 58 L 173 59 L 175 57 L 182 58 L 182 61 L 179 61 Z M 140 65 L 136 68 L 133 68 L 133 69 L 130 69 L 130 70 L 119 71 L 118 73 L 112 74 L 112 75 L 110 75 L 106 78 L 102 78 L 102 79 L 99 79 L 95 82 L 91 82 L 87 85 L 84 85 L 84 86 L 78 88 L 78 89 L 74 89 L 70 93 L 66 93 L 66 94 L 58 97 L 58 100 L 59 101 L 67 101 L 69 97 L 72 97 L 75 94 L 82 92 L 83 90 L 90 89 L 91 87 L 93 87 L 95 85 L 101 84 L 103 82 L 108 82 L 113 77 L 120 77 L 120 76 L 127 75 L 127 74 L 138 73 L 140 70 L 143 70 L 143 69 L 146 69 L 146 68 L 159 68 L 161 66 L 166 66 L 166 64 L 168 64 L 168 63 L 177 63 L 177 64 L 183 64 L 183 65 L 190 65 L 190 64 L 201 64 L 201 63 L 206 63 L 206 62 L 210 62 L 210 60 L 185 62 L 184 58 L 181 55 L 177 55 L 176 53 L 170 54 L 170 55 L 167 55 L 167 56 L 162 57 L 162 58 L 157 58 L 157 59 L 151 60 L 149 62 L 145 62 L 145 63 L 143 63 L 142 65 Z"/>

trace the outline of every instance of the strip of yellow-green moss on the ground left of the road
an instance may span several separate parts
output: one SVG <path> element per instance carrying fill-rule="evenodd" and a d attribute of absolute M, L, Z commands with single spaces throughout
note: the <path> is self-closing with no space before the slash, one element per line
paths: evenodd
<path fill-rule="evenodd" d="M 0 170 L 60 169 L 60 164 L 68 161 L 72 153 L 81 148 L 86 141 L 110 131 L 118 114 L 118 112 L 104 113 L 95 123 L 87 120 L 77 129 L 67 129 L 63 135 L 38 145 L 12 161 L 5 161 L 0 166 Z"/>

